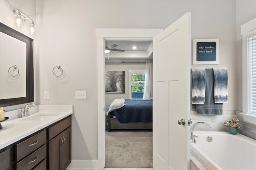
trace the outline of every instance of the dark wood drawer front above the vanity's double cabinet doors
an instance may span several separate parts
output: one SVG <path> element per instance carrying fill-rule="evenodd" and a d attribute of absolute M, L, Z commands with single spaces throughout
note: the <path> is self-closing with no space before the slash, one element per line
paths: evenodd
<path fill-rule="evenodd" d="M 54 138 L 54 136 L 58 135 L 60 132 L 65 130 L 66 128 L 71 126 L 71 116 L 68 118 L 64 119 L 63 121 L 60 121 L 56 125 L 51 126 L 48 128 L 49 132 L 49 140 Z"/>

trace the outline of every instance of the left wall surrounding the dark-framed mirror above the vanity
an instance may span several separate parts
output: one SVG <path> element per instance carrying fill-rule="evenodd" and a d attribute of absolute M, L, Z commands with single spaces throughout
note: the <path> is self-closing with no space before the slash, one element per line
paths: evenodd
<path fill-rule="evenodd" d="M 21 32 L 22 34 L 34 39 L 34 44 L 36 43 L 36 37 L 31 36 L 29 33 L 29 21 L 25 21 L 23 28 L 17 28 L 14 22 L 12 10 L 17 8 L 18 10 L 22 11 L 24 14 L 26 14 L 28 17 L 30 17 L 32 20 L 36 21 L 36 1 L 31 0 L 0 0 L 0 22 L 5 24 L 6 26 L 17 30 L 18 32 Z M 10 45 L 10 47 L 13 50 L 15 49 L 14 46 Z M 37 62 L 36 56 L 34 56 L 34 64 Z M 36 68 L 36 66 L 34 66 Z M 24 69 L 23 69 L 24 70 Z M 8 70 L 7 70 L 8 71 Z M 2 73 L 2 71 L 1 71 Z M 24 72 L 23 72 L 24 73 Z M 25 71 L 26 73 L 26 71 Z M 5 79 L 1 76 L 1 80 Z M 1 81 L 0 80 L 0 81 Z M 36 72 L 34 72 L 34 103 L 38 104 L 36 102 Z M 26 104 L 22 105 L 14 105 L 14 106 L 8 106 L 4 107 L 5 111 L 11 111 L 15 109 L 20 109 L 24 107 Z"/>

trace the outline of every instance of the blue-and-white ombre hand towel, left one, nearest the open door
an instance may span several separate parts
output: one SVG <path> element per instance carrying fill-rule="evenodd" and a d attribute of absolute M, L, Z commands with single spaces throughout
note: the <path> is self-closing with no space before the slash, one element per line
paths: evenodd
<path fill-rule="evenodd" d="M 205 68 L 195 67 L 192 72 L 191 101 L 192 104 L 204 104 L 205 99 Z"/>

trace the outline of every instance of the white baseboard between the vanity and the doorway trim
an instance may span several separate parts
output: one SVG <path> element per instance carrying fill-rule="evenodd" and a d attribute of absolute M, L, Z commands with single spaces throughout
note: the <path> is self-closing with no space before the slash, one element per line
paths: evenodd
<path fill-rule="evenodd" d="M 98 160 L 71 160 L 67 170 L 97 170 Z"/>

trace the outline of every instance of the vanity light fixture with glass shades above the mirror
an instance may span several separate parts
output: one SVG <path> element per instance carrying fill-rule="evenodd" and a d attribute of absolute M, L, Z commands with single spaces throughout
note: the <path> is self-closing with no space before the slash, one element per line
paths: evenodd
<path fill-rule="evenodd" d="M 25 14 L 23 14 L 20 10 L 18 9 L 14 9 L 13 11 L 13 16 L 15 19 L 15 23 L 17 24 L 18 28 L 22 28 L 24 25 L 24 20 L 28 19 L 30 20 L 30 34 L 33 36 L 35 34 L 35 23 L 31 18 L 29 18 L 28 16 L 26 16 Z"/>

